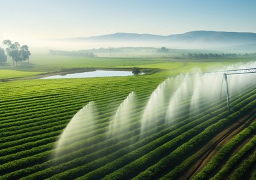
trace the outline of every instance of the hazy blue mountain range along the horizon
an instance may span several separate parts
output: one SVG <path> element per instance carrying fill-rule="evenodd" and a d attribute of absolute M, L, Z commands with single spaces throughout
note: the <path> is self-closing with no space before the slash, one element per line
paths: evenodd
<path fill-rule="evenodd" d="M 256 33 L 237 33 L 221 31 L 190 31 L 184 34 L 172 34 L 168 36 L 154 34 L 115 33 L 102 36 L 69 38 L 64 41 L 102 43 L 109 46 L 145 46 L 145 47 L 169 47 L 169 48 L 227 48 L 250 47 L 254 50 Z M 252 46 L 251 46 L 252 45 Z M 255 49 L 256 51 L 256 49 Z"/>

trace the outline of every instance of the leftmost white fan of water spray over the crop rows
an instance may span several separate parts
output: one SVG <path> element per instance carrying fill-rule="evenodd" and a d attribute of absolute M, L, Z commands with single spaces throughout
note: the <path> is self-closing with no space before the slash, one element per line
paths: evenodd
<path fill-rule="evenodd" d="M 61 133 L 60 139 L 56 143 L 55 155 L 58 156 L 61 150 L 65 150 L 65 147 L 79 142 L 81 135 L 86 133 L 86 130 L 93 129 L 96 120 L 97 109 L 95 103 L 90 101 L 72 117 L 63 133 Z"/>

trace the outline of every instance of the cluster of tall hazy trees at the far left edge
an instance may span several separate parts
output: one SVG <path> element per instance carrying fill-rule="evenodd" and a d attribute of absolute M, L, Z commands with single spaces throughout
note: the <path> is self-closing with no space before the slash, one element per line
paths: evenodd
<path fill-rule="evenodd" d="M 20 65 L 22 61 L 29 62 L 29 56 L 31 52 L 29 51 L 28 45 L 20 45 L 18 42 L 12 43 L 10 40 L 4 40 L 3 45 L 6 45 L 7 54 L 12 57 L 12 64 L 14 66 L 14 62 L 17 66 L 17 62 L 20 61 Z M 4 49 L 0 47 L 0 63 L 4 63 L 7 61 L 7 56 L 4 53 Z"/>

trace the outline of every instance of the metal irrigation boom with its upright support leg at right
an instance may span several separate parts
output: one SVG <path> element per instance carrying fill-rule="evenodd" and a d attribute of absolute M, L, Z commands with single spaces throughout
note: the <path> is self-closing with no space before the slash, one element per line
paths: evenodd
<path fill-rule="evenodd" d="M 229 91 L 228 91 L 228 75 L 239 75 L 239 74 L 246 74 L 246 73 L 256 73 L 256 68 L 249 68 L 249 69 L 242 69 L 242 70 L 228 70 L 223 71 L 223 77 L 226 81 L 227 87 L 227 107 L 228 111 L 230 111 L 230 101 L 229 101 Z"/>

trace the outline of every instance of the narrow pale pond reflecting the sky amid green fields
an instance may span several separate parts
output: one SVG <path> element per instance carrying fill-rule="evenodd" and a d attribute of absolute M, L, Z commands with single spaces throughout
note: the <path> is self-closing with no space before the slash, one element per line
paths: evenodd
<path fill-rule="evenodd" d="M 70 73 L 66 75 L 52 75 L 40 79 L 65 79 L 65 78 L 86 78 L 86 77 L 115 77 L 133 75 L 131 71 L 106 71 L 96 70 L 83 73 Z"/>

